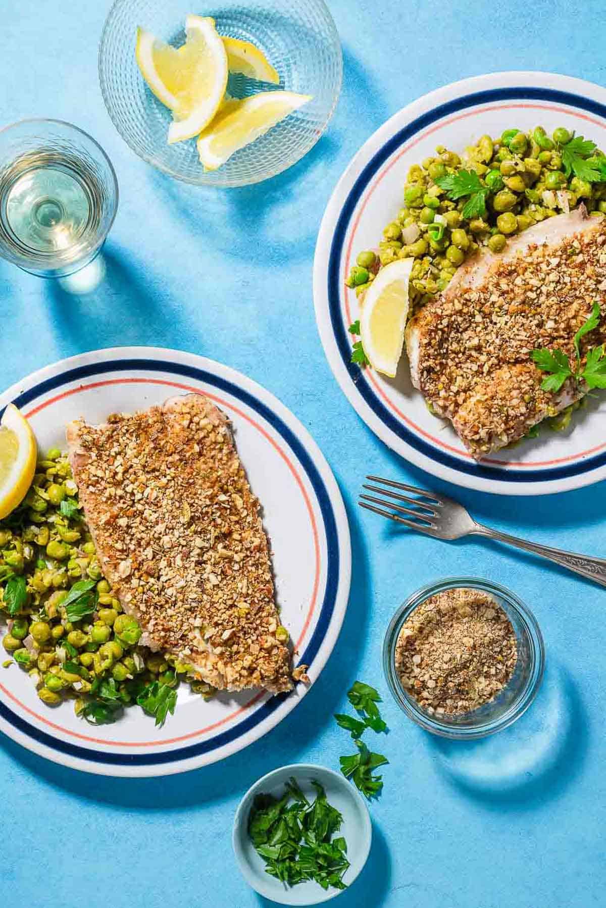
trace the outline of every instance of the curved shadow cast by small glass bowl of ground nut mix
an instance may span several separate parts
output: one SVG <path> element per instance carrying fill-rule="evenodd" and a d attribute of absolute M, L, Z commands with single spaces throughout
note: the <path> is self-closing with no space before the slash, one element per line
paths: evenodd
<path fill-rule="evenodd" d="M 515 725 L 478 741 L 429 735 L 449 782 L 499 812 L 534 810 L 557 799 L 582 771 L 587 715 L 571 676 L 548 666 L 543 687 Z"/>

